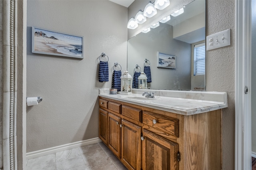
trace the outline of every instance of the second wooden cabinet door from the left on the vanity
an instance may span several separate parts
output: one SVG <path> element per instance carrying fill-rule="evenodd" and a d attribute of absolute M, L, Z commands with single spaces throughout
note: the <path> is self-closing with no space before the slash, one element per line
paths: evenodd
<path fill-rule="evenodd" d="M 121 158 L 121 118 L 108 113 L 108 147 L 112 152 Z"/>

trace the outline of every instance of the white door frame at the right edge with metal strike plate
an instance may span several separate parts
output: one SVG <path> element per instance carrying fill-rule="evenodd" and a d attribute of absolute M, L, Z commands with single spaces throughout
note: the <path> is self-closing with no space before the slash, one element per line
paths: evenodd
<path fill-rule="evenodd" d="M 235 170 L 252 168 L 251 143 L 251 0 L 236 0 Z"/>

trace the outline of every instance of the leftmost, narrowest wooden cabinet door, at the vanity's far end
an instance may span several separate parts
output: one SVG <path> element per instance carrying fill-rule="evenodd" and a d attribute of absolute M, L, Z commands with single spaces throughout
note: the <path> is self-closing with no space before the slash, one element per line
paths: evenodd
<path fill-rule="evenodd" d="M 99 110 L 99 138 L 108 145 L 108 111 Z"/>

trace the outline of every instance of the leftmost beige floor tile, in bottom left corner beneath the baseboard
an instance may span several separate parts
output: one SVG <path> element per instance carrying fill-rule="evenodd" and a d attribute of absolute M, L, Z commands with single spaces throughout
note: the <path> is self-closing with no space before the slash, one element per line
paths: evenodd
<path fill-rule="evenodd" d="M 28 160 L 27 170 L 56 170 L 55 154 Z"/>

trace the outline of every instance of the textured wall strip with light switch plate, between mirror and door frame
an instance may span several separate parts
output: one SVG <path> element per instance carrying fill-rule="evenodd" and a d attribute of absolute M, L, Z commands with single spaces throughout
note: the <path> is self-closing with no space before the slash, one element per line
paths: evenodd
<path fill-rule="evenodd" d="M 206 36 L 230 28 L 230 46 L 206 51 L 206 91 L 228 93 L 222 113 L 223 170 L 234 170 L 235 19 L 235 0 L 206 0 Z"/>

